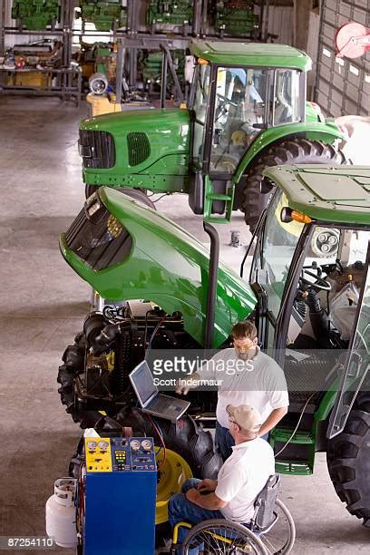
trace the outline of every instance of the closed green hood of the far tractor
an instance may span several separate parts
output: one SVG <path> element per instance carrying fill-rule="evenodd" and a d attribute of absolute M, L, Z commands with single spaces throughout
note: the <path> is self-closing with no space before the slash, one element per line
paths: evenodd
<path fill-rule="evenodd" d="M 187 110 L 130 110 L 80 124 L 83 179 L 91 185 L 182 190 L 189 173 Z M 176 184 L 178 189 L 176 189 Z M 151 187 L 149 187 L 151 185 Z"/>

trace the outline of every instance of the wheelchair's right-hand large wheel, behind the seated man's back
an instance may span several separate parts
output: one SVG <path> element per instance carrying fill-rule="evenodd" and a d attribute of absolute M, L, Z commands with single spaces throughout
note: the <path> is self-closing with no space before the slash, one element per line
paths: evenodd
<path fill-rule="evenodd" d="M 296 540 L 296 526 L 285 504 L 277 499 L 274 512 L 277 520 L 265 533 L 259 536 L 269 555 L 290 553 Z"/>

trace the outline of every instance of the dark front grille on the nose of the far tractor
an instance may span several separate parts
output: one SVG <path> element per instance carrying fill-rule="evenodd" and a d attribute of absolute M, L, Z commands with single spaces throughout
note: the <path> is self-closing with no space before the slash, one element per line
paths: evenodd
<path fill-rule="evenodd" d="M 80 130 L 80 155 L 85 168 L 112 168 L 115 164 L 115 146 L 107 131 Z"/>

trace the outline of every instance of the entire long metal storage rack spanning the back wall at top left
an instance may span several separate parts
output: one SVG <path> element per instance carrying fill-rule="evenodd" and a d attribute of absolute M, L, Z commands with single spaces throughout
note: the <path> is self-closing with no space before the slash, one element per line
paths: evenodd
<path fill-rule="evenodd" d="M 273 1 L 273 0 L 272 0 Z M 127 25 L 126 27 L 117 28 L 116 24 L 112 25 L 109 32 L 99 30 L 76 29 L 74 26 L 74 8 L 78 5 L 78 0 L 61 0 L 62 24 L 55 29 L 45 29 L 43 31 L 32 31 L 28 29 L 19 29 L 17 27 L 5 26 L 5 0 L 0 0 L 2 5 L 2 13 L 0 14 L 0 54 L 5 53 L 5 35 L 35 35 L 43 37 L 60 36 L 63 41 L 63 67 L 60 70 L 40 70 L 46 74 L 54 74 L 56 77 L 55 86 L 33 87 L 17 86 L 14 84 L 2 83 L 2 76 L 8 78 L 12 73 L 18 73 L 27 70 L 5 70 L 0 68 L 0 93 L 27 93 L 27 94 L 55 94 L 65 99 L 75 98 L 79 104 L 82 94 L 82 76 L 79 68 L 72 68 L 72 45 L 73 37 L 102 37 L 107 36 L 111 42 L 118 44 L 117 57 L 117 102 L 122 99 L 122 76 L 123 71 L 127 77 L 127 83 L 131 90 L 135 88 L 137 83 L 137 62 L 138 50 L 158 50 L 163 53 L 162 77 L 163 73 L 170 73 L 173 77 L 173 66 L 171 67 L 169 52 L 171 50 L 185 50 L 190 42 L 191 37 L 205 37 L 210 40 L 217 40 L 220 34 L 209 26 L 209 0 L 194 0 L 192 8 L 192 21 L 189 29 L 185 31 L 171 31 L 169 33 L 157 32 L 150 25 L 142 24 L 143 13 L 148 7 L 148 0 L 127 0 Z M 268 5 L 271 0 L 256 0 L 253 4 L 259 9 L 259 27 L 253 37 L 254 40 L 266 42 L 268 40 L 267 19 L 265 15 L 268 11 Z M 229 36 L 228 41 L 239 42 L 240 37 Z M 248 40 L 244 38 L 243 40 Z M 39 71 L 39 70 L 37 70 Z M 177 85 L 175 83 L 175 87 Z"/>

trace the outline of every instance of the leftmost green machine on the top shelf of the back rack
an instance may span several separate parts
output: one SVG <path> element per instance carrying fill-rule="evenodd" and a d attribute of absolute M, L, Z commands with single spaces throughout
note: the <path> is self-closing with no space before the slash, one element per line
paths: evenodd
<path fill-rule="evenodd" d="M 13 0 L 12 18 L 33 31 L 60 21 L 58 0 Z"/>

